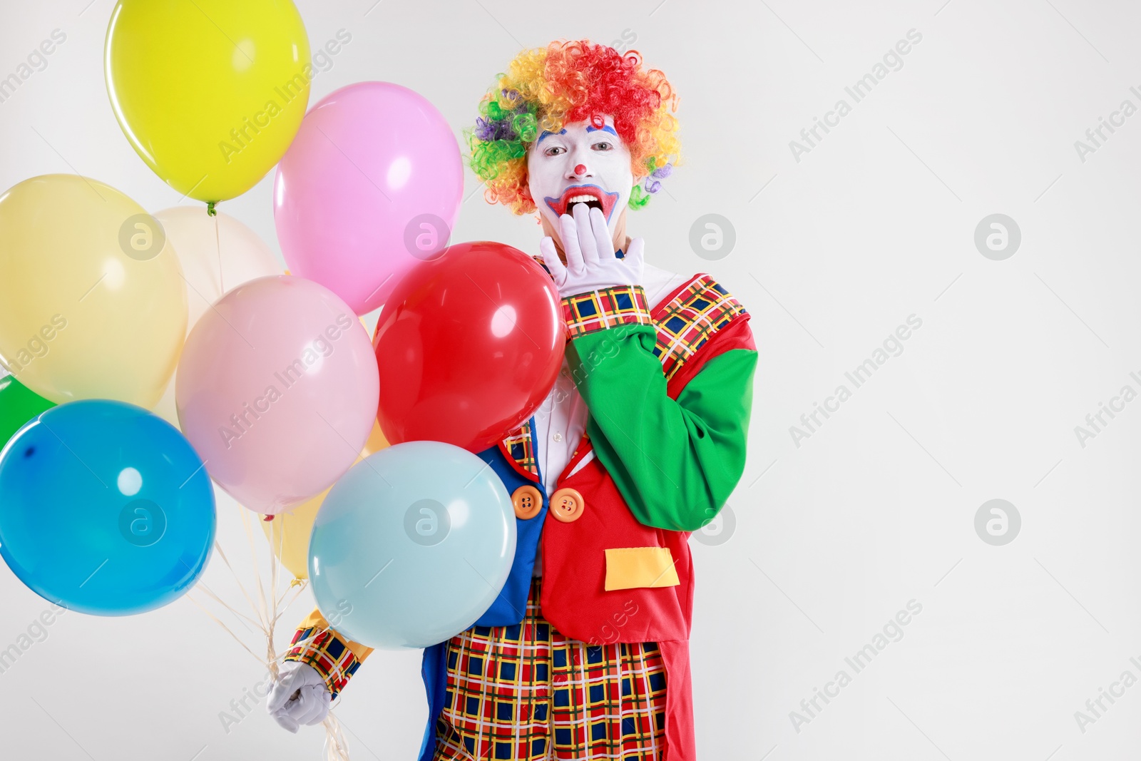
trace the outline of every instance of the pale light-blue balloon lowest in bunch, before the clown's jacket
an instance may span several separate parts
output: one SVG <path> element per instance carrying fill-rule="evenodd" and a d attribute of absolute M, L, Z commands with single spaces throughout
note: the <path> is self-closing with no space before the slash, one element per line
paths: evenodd
<path fill-rule="evenodd" d="M 442 442 L 395 444 L 333 486 L 313 524 L 309 578 L 339 633 L 428 647 L 491 607 L 515 557 L 515 508 L 492 468 Z"/>

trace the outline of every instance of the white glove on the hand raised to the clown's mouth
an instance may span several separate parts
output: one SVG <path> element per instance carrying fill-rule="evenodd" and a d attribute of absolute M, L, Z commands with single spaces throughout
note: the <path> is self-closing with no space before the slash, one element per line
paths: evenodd
<path fill-rule="evenodd" d="M 589 209 L 589 211 L 588 211 Z M 559 260 L 555 241 L 547 236 L 539 243 L 543 262 L 551 270 L 559 297 L 585 293 L 615 285 L 641 285 L 646 242 L 636 237 L 630 242 L 625 257 L 618 259 L 614 251 L 606 217 L 585 203 L 574 204 L 574 217 L 559 217 L 559 234 L 567 264 Z"/>

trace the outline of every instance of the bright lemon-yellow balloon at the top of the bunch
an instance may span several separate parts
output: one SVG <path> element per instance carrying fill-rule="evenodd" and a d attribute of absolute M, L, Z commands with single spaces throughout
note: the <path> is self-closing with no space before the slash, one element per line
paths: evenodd
<path fill-rule="evenodd" d="M 119 0 L 104 50 L 119 126 L 184 195 L 245 193 L 309 102 L 309 38 L 291 0 Z"/>

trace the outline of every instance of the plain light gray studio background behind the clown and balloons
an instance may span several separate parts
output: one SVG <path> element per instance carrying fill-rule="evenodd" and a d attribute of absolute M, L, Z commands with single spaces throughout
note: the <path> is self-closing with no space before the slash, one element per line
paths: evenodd
<path fill-rule="evenodd" d="M 0 187 L 75 171 L 148 210 L 178 203 L 108 105 L 111 0 L 5 0 L 0 74 L 51 30 L 67 41 L 0 104 Z M 1141 371 L 1136 204 L 1141 114 L 1081 161 L 1074 141 L 1141 86 L 1141 8 L 1077 0 L 511 3 L 302 0 L 316 48 L 351 42 L 310 103 L 359 80 L 399 82 L 459 131 L 521 47 L 621 40 L 681 94 L 687 165 L 631 218 L 647 259 L 709 272 L 752 313 L 760 350 L 736 528 L 694 544 L 699 756 L 771 761 L 1124 759 L 1141 686 L 1082 732 L 1074 713 L 1122 672 L 1141 678 L 1141 402 L 1082 447 L 1074 427 Z M 82 13 L 81 13 L 82 11 Z M 798 162 L 788 143 L 908 30 L 891 72 Z M 468 172 L 466 195 L 478 191 Z M 277 248 L 272 175 L 222 209 Z M 725 258 L 690 226 L 719 213 Z M 986 216 L 1019 225 L 1003 261 L 973 243 Z M 66 224 L 66 220 L 60 220 Z M 454 240 L 537 252 L 539 228 L 466 201 Z M 922 327 L 818 431 L 788 428 L 908 315 Z M 1139 372 L 1141 374 L 1141 372 Z M 851 388 L 849 383 L 849 388 Z M 1004 547 L 974 515 L 1022 518 Z M 232 500 L 220 537 L 249 564 Z M 252 574 L 249 567 L 240 572 Z M 207 582 L 240 601 L 216 558 Z M 844 663 L 909 600 L 923 606 L 861 673 Z M 0 569 L 0 647 L 47 606 Z M 306 596 L 282 620 L 284 646 Z M 187 600 L 137 617 L 68 614 L 0 674 L 5 758 L 316 759 L 322 731 L 256 712 L 218 718 L 261 678 Z M 251 640 L 252 641 L 252 640 Z M 851 685 L 795 731 L 790 712 L 839 670 Z M 1108 703 L 1106 705 L 1109 705 Z M 338 714 L 355 759 L 412 759 L 426 705 L 419 653 L 377 653 Z M 197 755 L 195 755 L 197 754 Z"/>

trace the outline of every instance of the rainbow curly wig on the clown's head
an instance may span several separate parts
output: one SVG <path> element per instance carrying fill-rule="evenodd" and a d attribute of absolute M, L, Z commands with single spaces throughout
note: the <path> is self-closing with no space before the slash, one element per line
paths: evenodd
<path fill-rule="evenodd" d="M 630 149 L 630 205 L 641 209 L 680 160 L 677 110 L 665 74 L 644 70 L 636 50 L 623 55 L 588 40 L 555 41 L 516 56 L 479 102 L 476 127 L 464 132 L 469 164 L 486 184 L 488 203 L 531 213 L 536 207 L 527 187 L 527 148 L 543 131 L 588 120 L 601 127 L 613 115 Z"/>

